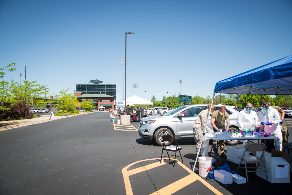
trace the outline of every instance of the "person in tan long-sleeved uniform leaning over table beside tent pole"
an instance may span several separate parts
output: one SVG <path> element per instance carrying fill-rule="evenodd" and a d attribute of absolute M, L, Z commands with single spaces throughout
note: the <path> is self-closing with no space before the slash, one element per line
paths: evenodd
<path fill-rule="evenodd" d="M 194 134 L 195 141 L 197 143 L 197 149 L 196 149 L 197 155 L 200 155 L 200 154 L 202 156 L 208 155 L 209 139 L 202 140 L 202 137 L 203 137 L 203 131 L 207 122 L 207 117 L 208 117 L 210 107 L 211 107 L 211 103 L 208 104 L 207 110 L 202 110 L 199 113 L 196 119 L 196 122 L 193 125 L 193 134 Z M 212 105 L 211 113 L 213 113 L 215 110 L 216 110 L 215 106 Z M 206 126 L 206 131 L 210 133 L 214 133 L 214 131 L 211 130 L 208 126 Z M 201 150 L 199 154 L 199 147 L 200 147 L 201 142 L 202 142 L 202 146 L 201 146 Z"/>

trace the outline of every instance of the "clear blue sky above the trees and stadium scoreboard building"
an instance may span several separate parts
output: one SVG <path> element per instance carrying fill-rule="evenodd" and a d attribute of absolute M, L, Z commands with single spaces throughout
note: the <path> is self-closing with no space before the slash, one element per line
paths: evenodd
<path fill-rule="evenodd" d="M 37 80 L 50 94 L 117 83 L 127 97 L 213 95 L 215 83 L 292 54 L 292 1 L 0 0 L 5 80 Z M 181 88 L 178 80 L 181 79 Z M 23 81 L 22 81 L 23 83 Z M 138 84 L 138 88 L 132 88 Z M 135 92 L 136 90 L 136 92 Z"/>

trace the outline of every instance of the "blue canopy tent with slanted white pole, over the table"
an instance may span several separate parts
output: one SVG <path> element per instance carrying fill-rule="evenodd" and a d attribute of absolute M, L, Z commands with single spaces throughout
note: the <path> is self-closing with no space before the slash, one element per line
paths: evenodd
<path fill-rule="evenodd" d="M 292 95 L 291 90 L 292 55 L 217 82 L 215 85 L 211 106 L 213 105 L 215 93 Z M 211 109 L 209 111 L 209 115 L 210 112 Z M 204 134 L 205 132 L 206 126 L 204 128 Z M 200 149 L 201 145 L 199 147 L 199 151 Z M 198 155 L 194 168 L 197 163 L 197 159 Z"/>

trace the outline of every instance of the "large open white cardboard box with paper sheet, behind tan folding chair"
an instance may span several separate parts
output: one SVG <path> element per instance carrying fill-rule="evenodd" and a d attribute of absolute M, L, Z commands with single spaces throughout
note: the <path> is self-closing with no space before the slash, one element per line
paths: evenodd
<path fill-rule="evenodd" d="M 257 153 L 256 156 L 260 156 Z M 289 163 L 282 157 L 272 157 L 272 153 L 264 152 L 266 170 L 268 175 L 268 181 L 271 183 L 289 183 L 290 173 L 289 173 Z M 264 170 L 264 164 L 260 163 L 257 170 Z M 256 175 L 266 179 L 266 173 L 256 172 Z"/>

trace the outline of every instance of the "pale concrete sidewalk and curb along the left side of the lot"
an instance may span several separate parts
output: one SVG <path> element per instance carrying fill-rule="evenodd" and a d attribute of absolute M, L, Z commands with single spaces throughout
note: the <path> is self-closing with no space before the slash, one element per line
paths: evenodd
<path fill-rule="evenodd" d="M 93 112 L 92 112 L 93 113 Z M 89 114 L 89 113 L 82 113 L 83 114 Z M 79 116 L 80 114 L 74 114 L 74 115 L 68 115 L 68 116 L 55 116 L 55 120 L 58 119 L 62 119 L 62 118 L 68 118 L 68 117 L 72 117 L 72 116 Z M 45 118 L 42 119 L 41 118 Z M 51 120 L 49 120 L 49 116 L 43 116 L 41 118 L 30 118 L 30 119 L 26 119 L 29 120 L 28 122 L 24 122 L 24 123 L 20 123 L 20 124 L 16 124 L 16 125 L 8 125 L 5 127 L 0 127 L 0 131 L 5 131 L 5 130 L 9 130 L 9 129 L 13 129 L 13 128 L 17 128 L 17 127 L 24 127 L 24 126 L 28 126 L 28 125 L 34 125 L 34 124 L 38 124 L 41 122 L 49 122 L 49 121 L 53 121 L 53 119 L 51 118 Z M 34 120 L 34 121 L 31 121 Z M 4 122 L 9 122 L 9 121 L 4 121 Z"/>

